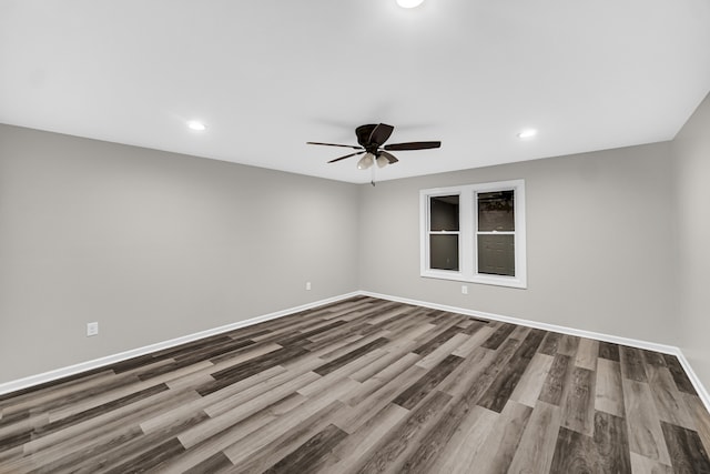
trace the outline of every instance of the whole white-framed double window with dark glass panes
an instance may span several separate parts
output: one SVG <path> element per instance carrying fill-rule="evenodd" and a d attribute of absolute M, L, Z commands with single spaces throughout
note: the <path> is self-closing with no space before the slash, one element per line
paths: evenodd
<path fill-rule="evenodd" d="M 525 182 L 420 192 L 422 276 L 526 288 Z"/>

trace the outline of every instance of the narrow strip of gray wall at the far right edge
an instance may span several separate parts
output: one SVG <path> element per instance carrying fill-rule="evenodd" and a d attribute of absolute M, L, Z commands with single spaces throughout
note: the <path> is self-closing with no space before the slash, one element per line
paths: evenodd
<path fill-rule="evenodd" d="M 710 389 L 710 95 L 672 142 L 676 164 L 680 349 Z"/>

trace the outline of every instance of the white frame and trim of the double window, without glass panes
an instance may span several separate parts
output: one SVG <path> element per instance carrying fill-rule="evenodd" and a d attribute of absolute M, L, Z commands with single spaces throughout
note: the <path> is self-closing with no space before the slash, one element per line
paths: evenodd
<path fill-rule="evenodd" d="M 515 213 L 515 276 L 478 273 L 478 206 L 481 192 L 514 191 Z M 429 199 L 440 195 L 459 195 L 458 271 L 429 268 Z M 442 233 L 442 232 L 434 232 Z M 450 232 L 449 232 L 450 233 Z M 491 234 L 494 232 L 481 232 Z M 507 232 L 498 232 L 507 233 Z M 483 283 L 497 286 L 527 288 L 525 180 L 497 181 L 419 191 L 419 271 L 424 278 Z"/>

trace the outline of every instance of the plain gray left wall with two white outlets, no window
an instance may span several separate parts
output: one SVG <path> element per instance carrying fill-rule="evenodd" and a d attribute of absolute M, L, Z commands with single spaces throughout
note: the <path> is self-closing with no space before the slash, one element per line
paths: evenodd
<path fill-rule="evenodd" d="M 357 290 L 357 199 L 0 125 L 0 383 Z"/>

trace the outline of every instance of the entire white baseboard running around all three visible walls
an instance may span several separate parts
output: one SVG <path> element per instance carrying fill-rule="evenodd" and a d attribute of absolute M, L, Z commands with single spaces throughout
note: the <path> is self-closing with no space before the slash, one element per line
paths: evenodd
<path fill-rule="evenodd" d="M 485 320 L 493 320 L 493 321 L 501 321 L 505 323 L 511 323 L 511 324 L 519 324 L 519 325 L 524 325 L 524 326 L 528 326 L 528 327 L 536 327 L 536 329 L 540 329 L 540 330 L 545 330 L 545 331 L 552 331 L 552 332 L 558 332 L 558 333 L 562 333 L 562 334 L 570 334 L 570 335 L 576 335 L 579 337 L 589 337 L 589 339 L 595 339 L 598 341 L 606 341 L 606 342 L 611 342 L 615 344 L 622 344 L 622 345 L 628 345 L 631 347 L 638 347 L 638 349 L 646 349 L 649 351 L 655 351 L 655 352 L 661 352 L 665 354 L 671 354 L 678 357 L 678 360 L 680 361 L 680 364 L 682 365 L 683 370 L 686 371 L 686 373 L 688 374 L 688 377 L 690 379 L 690 381 L 692 382 L 696 391 L 698 392 L 698 396 L 700 397 L 700 400 L 702 401 L 702 403 L 706 405 L 706 409 L 708 409 L 708 411 L 710 412 L 710 395 L 708 394 L 708 391 L 706 390 L 706 387 L 702 385 L 702 383 L 700 382 L 700 379 L 698 379 L 698 375 L 694 373 L 694 371 L 692 370 L 692 366 L 690 365 L 690 363 L 688 362 L 688 360 L 686 359 L 686 356 L 683 355 L 682 351 L 673 345 L 666 345 L 666 344 L 658 344 L 655 342 L 647 342 L 647 341 L 639 341 L 636 339 L 629 339 L 629 337 L 620 337 L 620 336 L 616 336 L 616 335 L 610 335 L 610 334 L 604 334 L 604 333 L 597 333 L 597 332 L 592 332 L 592 331 L 584 331 L 584 330 L 577 330 L 574 327 L 566 327 L 566 326 L 559 326 L 556 324 L 548 324 L 548 323 L 540 323 L 538 321 L 530 321 L 530 320 L 524 320 L 524 319 L 519 319 L 519 317 L 510 317 L 510 316 L 504 316 L 500 314 L 494 314 L 494 313 L 487 313 L 484 311 L 474 311 L 474 310 L 468 310 L 465 307 L 457 307 L 457 306 L 449 306 L 446 304 L 438 304 L 438 303 L 430 303 L 430 302 L 426 302 L 426 301 L 419 301 L 419 300 L 412 300 L 408 297 L 400 297 L 400 296 L 393 296 L 393 295 L 388 295 L 388 294 L 381 294 L 381 293 L 373 293 L 369 291 L 356 291 L 356 292 L 352 292 L 352 293 L 347 293 L 347 294 L 342 294 L 338 296 L 333 296 L 333 297 L 328 297 L 325 300 L 320 300 L 320 301 L 314 301 L 312 303 L 306 303 L 306 304 L 302 304 L 300 306 L 294 306 L 294 307 L 290 307 L 286 310 L 282 310 L 282 311 L 276 311 L 274 313 L 268 313 L 268 314 L 263 314 L 261 316 L 256 316 L 256 317 L 252 317 L 248 320 L 244 320 L 244 321 L 237 321 L 235 323 L 232 324 L 227 324 L 224 326 L 220 326 L 220 327 L 215 327 L 215 329 L 211 329 L 211 330 L 206 330 L 206 331 L 201 331 L 194 334 L 189 334 L 182 337 L 176 337 L 176 339 L 172 339 L 170 341 L 164 341 L 164 342 L 159 342 L 156 344 L 151 344 L 151 345 L 146 345 L 143 347 L 138 347 L 138 349 L 133 349 L 130 351 L 125 351 L 125 352 L 121 352 L 119 354 L 113 354 L 113 355 L 108 355 L 105 357 L 101 357 L 101 359 L 97 359 L 93 361 L 88 361 L 88 362 L 82 362 L 80 364 L 75 364 L 75 365 L 71 365 L 68 367 L 62 367 L 62 369 L 57 369 L 53 371 L 49 371 L 49 372 L 44 372 L 38 375 L 31 375 L 24 379 L 20 379 L 17 381 L 11 381 L 11 382 L 6 382 L 0 384 L 0 395 L 6 394 L 6 393 L 10 393 L 10 392 L 16 392 L 18 390 L 22 390 L 22 389 L 28 389 L 30 386 L 34 386 L 34 385 L 40 385 L 47 382 L 52 382 L 69 375 L 74 375 L 81 372 L 87 372 L 93 369 L 99 369 L 105 365 L 110 365 L 110 364 L 114 364 L 116 362 L 121 362 L 121 361 L 125 361 L 128 359 L 132 359 L 132 357 L 136 357 L 139 355 L 144 355 L 144 354 L 149 354 L 151 352 L 158 352 L 158 351 L 162 351 L 164 349 L 169 349 L 169 347 L 173 347 L 180 344 L 184 344 L 187 342 L 192 342 L 192 341 L 196 341 L 199 339 L 203 339 L 203 337 L 209 337 L 211 335 L 215 335 L 215 334 L 221 334 L 224 332 L 229 332 L 229 331 L 233 331 L 240 327 L 245 327 L 245 326 L 250 326 L 256 323 L 261 323 L 263 321 L 268 321 L 268 320 L 274 320 L 277 317 L 283 317 L 286 316 L 288 314 L 293 314 L 293 313 L 297 313 L 300 311 L 305 311 L 305 310 L 310 310 L 313 307 L 317 307 L 317 306 L 322 306 L 324 304 L 329 304 L 329 303 L 334 303 L 341 300 L 345 300 L 352 296 L 358 296 L 358 295 L 363 295 L 363 296 L 372 296 L 372 297 L 378 297 L 381 300 L 388 300 L 388 301 L 396 301 L 398 303 L 405 303 L 405 304 L 413 304 L 415 306 L 423 306 L 423 307 L 430 307 L 434 310 L 442 310 L 442 311 L 448 311 L 452 313 L 459 313 L 459 314 L 465 314 L 468 316 L 474 316 L 474 317 L 481 317 Z"/>

